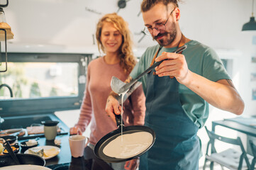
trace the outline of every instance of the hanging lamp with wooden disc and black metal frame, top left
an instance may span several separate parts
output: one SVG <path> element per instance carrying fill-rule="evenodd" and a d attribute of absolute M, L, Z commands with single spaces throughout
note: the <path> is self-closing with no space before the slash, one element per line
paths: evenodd
<path fill-rule="evenodd" d="M 6 23 L 6 17 L 4 14 L 4 7 L 8 6 L 9 1 L 6 0 L 6 4 L 0 4 L 0 67 L 2 65 L 1 61 L 1 41 L 4 41 L 5 45 L 5 69 L 0 70 L 0 72 L 7 71 L 7 43 L 6 40 L 13 39 L 13 33 L 11 32 L 11 27 Z"/>

